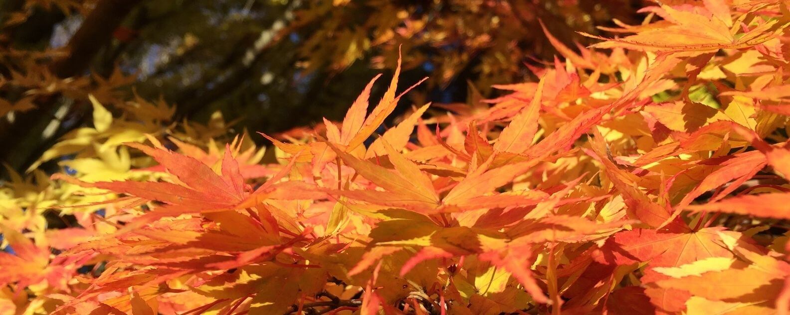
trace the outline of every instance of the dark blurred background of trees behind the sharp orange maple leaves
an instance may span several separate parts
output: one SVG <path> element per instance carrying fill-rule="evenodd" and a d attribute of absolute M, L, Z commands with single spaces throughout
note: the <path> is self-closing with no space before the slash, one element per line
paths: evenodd
<path fill-rule="evenodd" d="M 194 128 L 218 130 L 211 137 L 244 130 L 276 134 L 321 117 L 338 120 L 372 76 L 391 75 L 398 47 L 407 69 L 401 88 L 430 77 L 401 110 L 466 102 L 470 94 L 492 97 L 491 84 L 521 82 L 532 76 L 525 64 L 552 61 L 556 52 L 538 17 L 573 47 L 589 43 L 575 31 L 596 34 L 593 25 L 612 19 L 638 23 L 642 17 L 634 12 L 642 5 L 2 0 L 0 161 L 24 172 L 64 135 L 77 139 L 77 128 L 93 124 L 88 95 L 115 117 L 139 124 L 137 132 L 169 133 L 178 124 L 182 135 Z M 372 96 L 382 93 L 374 89 Z"/>

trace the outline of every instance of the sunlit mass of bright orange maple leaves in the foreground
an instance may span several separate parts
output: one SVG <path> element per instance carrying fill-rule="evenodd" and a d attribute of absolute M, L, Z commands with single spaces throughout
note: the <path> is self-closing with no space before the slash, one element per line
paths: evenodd
<path fill-rule="evenodd" d="M 759 233 L 790 218 L 788 7 L 643 10 L 591 48 L 547 34 L 540 82 L 382 135 L 400 61 L 370 111 L 376 78 L 342 122 L 265 135 L 276 163 L 150 136 L 128 144 L 148 181 L 55 174 L 118 198 L 49 240 L 6 222 L 0 313 L 787 313 L 787 237 Z"/>

